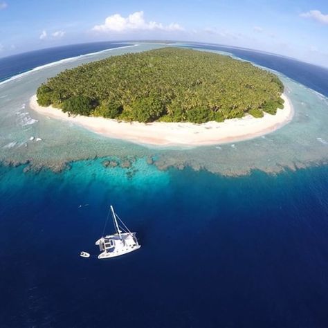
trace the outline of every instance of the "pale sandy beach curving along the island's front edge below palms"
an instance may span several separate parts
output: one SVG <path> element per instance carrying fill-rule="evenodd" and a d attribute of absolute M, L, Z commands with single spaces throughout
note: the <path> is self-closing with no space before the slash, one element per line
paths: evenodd
<path fill-rule="evenodd" d="M 129 140 L 134 143 L 148 145 L 218 145 L 231 143 L 268 134 L 286 125 L 293 118 L 293 106 L 286 97 L 284 109 L 278 109 L 276 115 L 264 113 L 263 118 L 233 118 L 224 122 L 194 123 L 139 123 L 118 122 L 108 118 L 68 116 L 60 109 L 51 106 L 41 107 L 37 104 L 37 96 L 30 98 L 30 108 L 37 113 L 73 122 L 97 134 L 110 138 Z"/>

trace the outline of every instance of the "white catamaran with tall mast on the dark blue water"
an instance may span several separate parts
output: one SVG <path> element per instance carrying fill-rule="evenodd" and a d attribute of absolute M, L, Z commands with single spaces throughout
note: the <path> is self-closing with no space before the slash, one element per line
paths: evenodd
<path fill-rule="evenodd" d="M 138 244 L 136 233 L 131 233 L 127 226 L 125 226 L 116 212 L 114 212 L 113 206 L 111 206 L 111 217 L 113 218 L 116 233 L 101 237 L 95 242 L 101 251 L 100 255 L 98 255 L 98 259 L 108 259 L 110 257 L 124 255 L 141 247 Z"/>

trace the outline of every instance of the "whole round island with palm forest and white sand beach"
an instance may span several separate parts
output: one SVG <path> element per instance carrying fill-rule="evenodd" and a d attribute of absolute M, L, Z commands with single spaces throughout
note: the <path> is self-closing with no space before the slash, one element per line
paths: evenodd
<path fill-rule="evenodd" d="M 250 62 L 165 47 L 63 71 L 39 86 L 30 107 L 113 138 L 209 145 L 286 124 L 293 111 L 283 92 L 277 75 Z"/>

